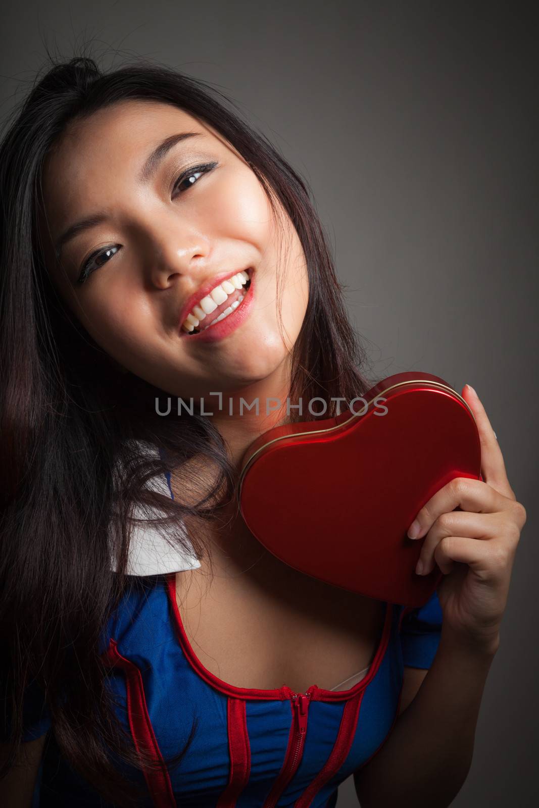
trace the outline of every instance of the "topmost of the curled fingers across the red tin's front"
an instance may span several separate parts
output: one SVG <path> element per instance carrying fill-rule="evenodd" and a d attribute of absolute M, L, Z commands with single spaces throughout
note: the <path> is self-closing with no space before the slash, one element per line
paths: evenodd
<path fill-rule="evenodd" d="M 496 511 L 507 510 L 508 504 L 507 497 L 504 497 L 503 494 L 500 494 L 490 485 L 486 485 L 485 482 L 456 477 L 436 491 L 436 494 L 433 494 L 431 499 L 423 505 L 408 529 L 408 537 L 420 539 L 425 536 L 436 519 L 443 513 L 454 511 L 456 507 L 460 507 L 461 511 L 495 513 Z M 411 535 L 415 524 L 418 525 L 419 532 Z"/>

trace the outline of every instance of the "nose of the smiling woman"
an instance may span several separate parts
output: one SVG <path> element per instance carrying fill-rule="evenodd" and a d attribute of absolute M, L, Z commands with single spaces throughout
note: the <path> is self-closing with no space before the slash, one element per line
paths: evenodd
<path fill-rule="evenodd" d="M 149 275 L 157 288 L 168 288 L 175 275 L 197 274 L 207 263 L 208 239 L 195 229 L 182 227 L 177 220 L 155 232 L 152 242 Z"/>

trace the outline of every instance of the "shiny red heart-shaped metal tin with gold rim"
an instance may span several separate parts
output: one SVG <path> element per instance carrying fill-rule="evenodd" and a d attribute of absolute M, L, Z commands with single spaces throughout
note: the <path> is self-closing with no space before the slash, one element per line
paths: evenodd
<path fill-rule="evenodd" d="M 358 400 L 356 400 L 358 401 Z M 274 427 L 247 449 L 238 499 L 253 535 L 281 561 L 376 600 L 422 606 L 440 582 L 415 573 L 418 511 L 456 477 L 481 479 L 464 398 L 430 373 L 377 382 L 351 409 Z"/>

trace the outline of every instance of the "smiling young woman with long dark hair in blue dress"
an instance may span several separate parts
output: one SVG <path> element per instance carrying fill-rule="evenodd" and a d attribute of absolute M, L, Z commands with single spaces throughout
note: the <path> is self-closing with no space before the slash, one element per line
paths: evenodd
<path fill-rule="evenodd" d="M 373 385 L 297 173 L 202 82 L 77 57 L 11 122 L 0 204 L 0 802 L 322 808 L 354 773 L 364 808 L 448 806 L 525 521 L 473 390 L 484 482 L 410 534 L 437 595 L 331 587 L 234 500 L 263 431 Z"/>

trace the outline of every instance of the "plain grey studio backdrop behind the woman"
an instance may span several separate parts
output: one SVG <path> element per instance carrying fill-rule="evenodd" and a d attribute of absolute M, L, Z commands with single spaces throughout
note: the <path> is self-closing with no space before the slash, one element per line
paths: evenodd
<path fill-rule="evenodd" d="M 94 40 L 104 66 L 141 54 L 217 84 L 313 188 L 374 371 L 416 369 L 477 389 L 528 523 L 457 808 L 539 796 L 532 11 L 208 0 L 23 0 L 2 11 L 2 120 L 43 64 L 44 43 L 68 58 Z M 349 778 L 339 808 L 356 805 Z"/>

